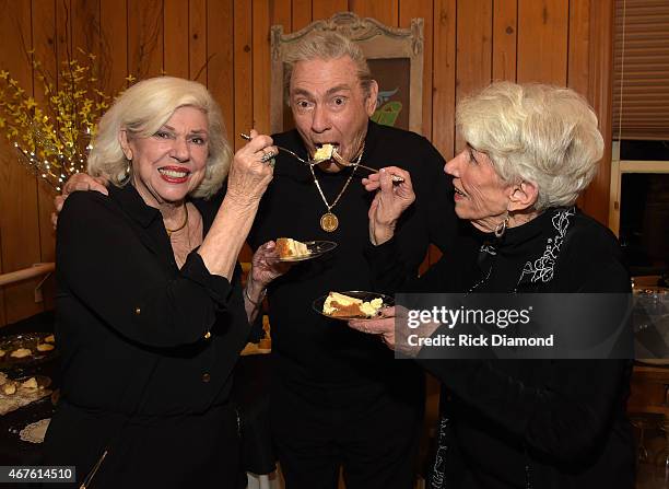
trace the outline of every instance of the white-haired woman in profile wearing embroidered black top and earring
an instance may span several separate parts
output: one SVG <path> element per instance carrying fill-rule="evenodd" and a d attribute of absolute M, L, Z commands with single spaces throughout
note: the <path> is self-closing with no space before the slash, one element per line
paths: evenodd
<path fill-rule="evenodd" d="M 612 233 L 574 203 L 603 141 L 574 91 L 494 83 L 457 108 L 466 148 L 450 160 L 456 213 L 473 226 L 421 279 L 407 280 L 394 229 L 410 175 L 365 182 L 377 284 L 420 292 L 630 292 Z M 404 176 L 394 186 L 389 174 Z M 392 316 L 395 311 L 386 312 Z M 351 322 L 396 344 L 394 318 Z M 633 488 L 626 360 L 423 360 L 445 387 L 432 488 Z"/>

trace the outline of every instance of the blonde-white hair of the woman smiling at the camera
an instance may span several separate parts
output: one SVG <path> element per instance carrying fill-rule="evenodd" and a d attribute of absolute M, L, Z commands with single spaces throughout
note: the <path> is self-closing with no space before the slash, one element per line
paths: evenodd
<path fill-rule="evenodd" d="M 141 81 L 126 90 L 99 120 L 93 149 L 89 155 L 89 174 L 105 176 L 117 187 L 127 184 L 132 172 L 119 142 L 119 132 L 145 138 L 154 135 L 184 106 L 196 107 L 209 123 L 209 156 L 202 183 L 192 197 L 209 198 L 223 185 L 232 162 L 232 150 L 225 138 L 225 126 L 219 104 L 200 83 L 174 77 Z"/>

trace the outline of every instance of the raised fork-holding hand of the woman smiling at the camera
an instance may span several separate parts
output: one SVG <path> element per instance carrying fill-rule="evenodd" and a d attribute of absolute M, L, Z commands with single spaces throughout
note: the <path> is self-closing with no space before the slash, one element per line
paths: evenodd
<path fill-rule="evenodd" d="M 273 159 L 268 160 L 268 156 L 279 151 L 269 136 L 251 129 L 250 137 L 250 141 L 235 153 L 225 194 L 225 198 L 242 206 L 260 201 L 273 176 Z"/>

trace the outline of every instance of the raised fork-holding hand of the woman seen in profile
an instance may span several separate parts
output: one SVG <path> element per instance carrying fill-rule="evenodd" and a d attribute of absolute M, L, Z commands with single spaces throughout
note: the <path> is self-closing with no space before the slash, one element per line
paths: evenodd
<path fill-rule="evenodd" d="M 404 181 L 394 183 L 392 175 Z M 399 217 L 415 200 L 411 175 L 397 166 L 388 166 L 363 178 L 363 185 L 366 190 L 376 191 L 368 212 L 369 241 L 380 245 L 392 237 Z"/>

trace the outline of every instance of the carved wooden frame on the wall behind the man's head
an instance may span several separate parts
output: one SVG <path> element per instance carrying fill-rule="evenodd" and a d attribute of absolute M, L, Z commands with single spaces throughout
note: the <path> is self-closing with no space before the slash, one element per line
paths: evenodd
<path fill-rule="evenodd" d="M 361 19 L 353 12 L 339 12 L 316 21 L 291 34 L 283 25 L 271 27 L 270 127 L 272 133 L 283 130 L 284 101 L 283 60 L 285 54 L 314 31 L 336 31 L 362 48 L 367 59 L 408 58 L 410 61 L 409 129 L 422 133 L 423 128 L 423 19 L 411 19 L 411 27 L 388 27 L 375 19 Z"/>

